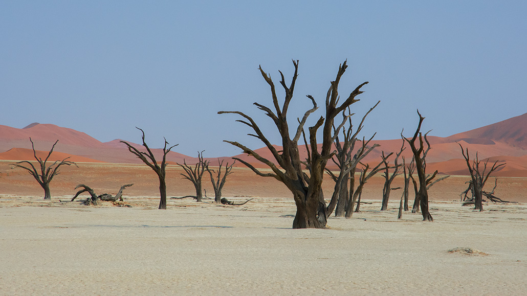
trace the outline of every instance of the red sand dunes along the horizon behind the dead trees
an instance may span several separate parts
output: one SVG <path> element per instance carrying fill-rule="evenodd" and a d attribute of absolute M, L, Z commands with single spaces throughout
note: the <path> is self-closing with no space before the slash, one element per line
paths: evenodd
<path fill-rule="evenodd" d="M 411 136 L 411 134 L 408 136 Z M 48 151 L 53 143 L 59 140 L 55 147 L 55 153 L 62 152 L 84 157 L 83 159 L 89 159 L 90 162 L 141 163 L 138 157 L 128 152 L 126 146 L 120 143 L 119 139 L 102 143 L 85 133 L 53 124 L 33 123 L 24 127 L 24 129 L 0 125 L 0 152 L 8 151 L 13 147 L 31 149 L 30 137 L 35 142 L 35 149 L 40 151 Z M 461 147 L 458 144 L 461 143 L 465 149 L 469 149 L 471 158 L 477 152 L 482 160 L 490 157 L 490 161 L 505 161 L 507 163 L 506 166 L 496 171 L 495 175 L 527 177 L 527 114 L 444 138 L 430 136 L 428 140 L 432 146 L 427 155 L 428 171 L 438 170 L 444 174 L 467 174 L 466 163 L 462 159 Z M 379 144 L 380 147 L 377 147 L 363 161 L 371 165 L 380 161 L 382 151 L 386 153 L 399 151 L 403 141 L 402 139 L 376 140 L 373 143 Z M 131 144 L 144 151 L 140 144 Z M 359 145 L 360 142 L 357 143 L 357 148 Z M 407 144 L 405 144 L 405 147 L 406 150 L 402 155 L 409 161 L 412 159 L 412 152 Z M 278 145 L 275 145 L 275 148 L 278 151 L 281 150 Z M 156 159 L 161 159 L 161 149 L 152 149 L 152 151 Z M 270 161 L 274 161 L 274 157 L 272 157 L 266 147 L 256 149 L 255 152 Z M 301 145 L 299 152 L 302 158 L 306 157 L 305 146 Z M 9 157 L 22 159 L 23 156 L 11 154 Z M 255 167 L 267 167 L 252 156 L 239 154 L 235 157 L 239 157 Z M 393 158 L 394 156 L 391 157 L 392 161 Z M 30 159 L 33 159 L 33 157 L 31 156 Z M 194 164 L 198 161 L 196 157 L 173 151 L 167 155 L 167 161 L 171 164 L 183 163 L 183 160 L 186 160 L 187 164 Z M 211 161 L 211 166 L 218 165 L 220 161 L 232 163 L 231 157 L 209 158 L 206 160 Z M 243 166 L 243 164 L 237 163 L 236 166 Z M 328 162 L 328 167 L 336 169 L 336 165 L 331 161 Z"/>

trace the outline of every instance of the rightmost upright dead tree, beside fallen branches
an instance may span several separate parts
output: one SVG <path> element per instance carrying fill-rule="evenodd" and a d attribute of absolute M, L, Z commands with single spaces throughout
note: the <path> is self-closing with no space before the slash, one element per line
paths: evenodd
<path fill-rule="evenodd" d="M 486 161 L 483 164 L 483 171 L 480 169 L 481 161 L 477 157 L 476 152 L 476 158 L 472 161 L 472 164 L 470 163 L 470 156 L 469 156 L 469 149 L 466 148 L 466 154 L 465 150 L 463 149 L 463 146 L 461 143 L 457 143 L 461 147 L 461 153 L 463 154 L 463 158 L 466 161 L 467 167 L 469 167 L 470 177 L 472 180 L 472 195 L 474 197 L 474 210 L 483 211 L 483 186 L 485 186 L 485 183 L 489 179 L 489 176 L 492 172 L 499 169 L 499 167 L 504 166 L 505 163 L 496 165 L 498 161 L 496 160 L 494 164 L 492 165 L 489 172 L 485 174 L 485 171 L 487 169 L 487 164 L 489 163 Z"/>

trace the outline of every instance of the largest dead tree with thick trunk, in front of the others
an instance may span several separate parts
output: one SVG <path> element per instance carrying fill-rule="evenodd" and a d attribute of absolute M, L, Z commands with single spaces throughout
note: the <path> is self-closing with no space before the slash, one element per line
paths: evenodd
<path fill-rule="evenodd" d="M 300 140 L 302 132 L 304 131 L 304 125 L 308 116 L 315 112 L 318 106 L 315 98 L 308 95 L 307 97 L 311 100 L 311 103 L 313 103 L 313 107 L 305 112 L 302 119 L 298 120 L 298 126 L 296 127 L 296 131 L 293 131 L 294 136 L 291 138 L 289 124 L 287 122 L 287 111 L 289 103 L 293 97 L 295 83 L 298 76 L 298 61 L 293 61 L 293 64 L 295 66 L 295 74 L 293 75 L 291 84 L 289 86 L 285 82 L 284 74 L 280 72 L 280 84 L 285 91 L 284 102 L 281 104 L 281 106 L 276 94 L 275 84 L 272 82 L 271 77 L 266 74 L 260 66 L 260 73 L 264 77 L 267 84 L 270 86 L 273 108 L 269 108 L 259 103 L 254 103 L 260 110 L 264 111 L 276 125 L 282 142 L 281 151 L 278 151 L 269 142 L 267 137 L 264 135 L 264 133 L 262 133 L 256 122 L 250 116 L 239 111 L 220 111 L 218 113 L 233 113 L 243 117 L 243 120 L 238 121 L 251 127 L 254 134 L 251 133 L 249 135 L 255 136 L 261 140 L 271 152 L 276 164 L 275 162 L 266 159 L 257 152 L 238 142 L 226 141 L 227 143 L 239 147 L 244 153 L 255 157 L 256 160 L 269 166 L 272 172 L 264 173 L 246 161 L 236 159 L 237 161 L 245 164 L 253 172 L 260 176 L 274 177 L 276 180 L 284 183 L 291 191 L 297 208 L 292 227 L 325 228 L 327 222 L 327 206 L 322 192 L 324 170 L 327 161 L 334 155 L 332 144 L 335 140 L 335 137 L 339 133 L 341 126 L 346 123 L 348 118 L 344 116 L 344 120 L 342 122 L 335 124 L 335 126 L 337 126 L 336 130 L 333 129 L 333 125 L 335 123 L 334 119 L 337 115 L 344 112 L 350 105 L 358 101 L 355 97 L 363 93 L 360 91 L 360 88 L 367 84 L 367 82 L 357 86 L 355 90 L 351 92 L 341 104 L 339 104 L 338 85 L 341 76 L 346 71 L 347 64 L 344 62 L 339 66 L 336 79 L 335 81 L 331 82 L 331 86 L 329 87 L 326 95 L 325 116 L 321 116 L 319 120 L 308 129 L 309 144 L 307 141 L 305 141 L 309 151 L 308 159 L 305 162 L 309 168 L 308 174 L 303 170 L 304 167 L 302 161 L 300 160 L 300 154 L 298 151 L 298 141 Z M 317 142 L 317 132 L 320 128 L 322 129 L 321 134 L 323 139 L 319 147 Z"/>

